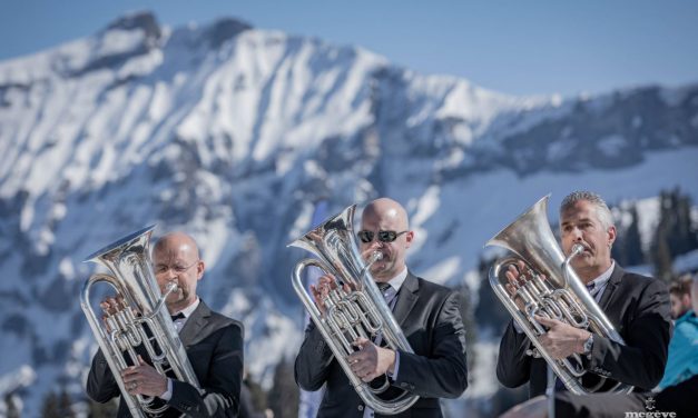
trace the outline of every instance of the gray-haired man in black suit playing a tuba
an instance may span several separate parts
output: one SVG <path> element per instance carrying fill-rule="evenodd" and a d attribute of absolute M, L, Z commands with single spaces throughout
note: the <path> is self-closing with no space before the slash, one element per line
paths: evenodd
<path fill-rule="evenodd" d="M 584 369 L 590 371 L 583 377 L 584 387 L 593 387 L 606 377 L 608 380 L 599 391 L 610 390 L 613 381 L 635 386 L 636 390 L 652 389 L 661 380 L 671 338 L 667 287 L 660 280 L 625 271 L 613 261 L 613 219 L 603 199 L 593 192 L 577 191 L 563 199 L 560 237 L 566 255 L 576 245 L 583 247 L 571 266 L 626 345 L 547 318 L 539 318 L 548 328 L 540 342 L 556 359 L 581 356 Z M 510 266 L 510 282 L 519 280 L 519 271 Z M 497 376 L 510 388 L 530 382 L 529 395 L 534 397 L 545 390 L 547 365 L 542 358 L 527 355 L 531 346 L 525 334 L 511 321 L 500 345 Z M 564 390 L 560 381 L 556 388 Z"/>

